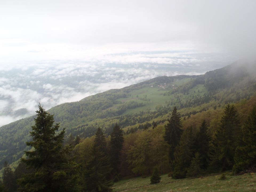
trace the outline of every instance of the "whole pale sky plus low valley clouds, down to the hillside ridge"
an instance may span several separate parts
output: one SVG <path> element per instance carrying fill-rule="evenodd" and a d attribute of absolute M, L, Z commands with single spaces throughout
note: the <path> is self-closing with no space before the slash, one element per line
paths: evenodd
<path fill-rule="evenodd" d="M 255 54 L 256 1 L 0 0 L 0 126 Z M 21 109 L 26 109 L 25 111 Z"/>

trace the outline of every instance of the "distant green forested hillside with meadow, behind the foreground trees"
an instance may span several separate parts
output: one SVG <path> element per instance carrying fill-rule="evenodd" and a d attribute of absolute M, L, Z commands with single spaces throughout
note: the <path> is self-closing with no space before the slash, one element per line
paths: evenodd
<path fill-rule="evenodd" d="M 241 122 L 248 115 L 245 106 L 250 108 L 250 103 L 255 102 L 254 64 L 240 61 L 205 75 L 157 77 L 78 102 L 64 103 L 48 112 L 54 114 L 60 130 L 66 127 L 66 142 L 70 134 L 91 137 L 98 127 L 108 136 L 116 123 L 127 134 L 147 130 L 166 123 L 174 106 L 181 114 L 183 128 L 194 125 L 197 129 L 204 117 L 213 134 L 226 104 L 235 103 Z M 17 166 L 23 151 L 29 150 L 25 142 L 31 140 L 29 131 L 34 118 L 21 119 L 0 128 L 0 167 L 5 161 L 16 162 L 13 166 Z"/>

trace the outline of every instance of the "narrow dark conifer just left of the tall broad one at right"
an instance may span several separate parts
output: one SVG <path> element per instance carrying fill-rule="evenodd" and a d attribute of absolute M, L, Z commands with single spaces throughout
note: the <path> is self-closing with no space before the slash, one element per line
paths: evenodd
<path fill-rule="evenodd" d="M 201 156 L 202 169 L 207 169 L 208 167 L 209 142 L 210 142 L 210 137 L 207 134 L 207 124 L 206 124 L 206 121 L 203 120 L 199 128 L 199 131 L 196 134 L 196 140 L 195 140 L 195 150 Z"/>

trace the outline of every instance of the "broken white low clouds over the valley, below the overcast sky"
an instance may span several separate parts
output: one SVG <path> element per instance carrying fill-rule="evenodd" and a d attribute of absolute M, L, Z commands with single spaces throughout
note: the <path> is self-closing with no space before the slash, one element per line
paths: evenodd
<path fill-rule="evenodd" d="M 214 55 L 213 58 L 211 53 L 144 51 L 2 67 L 0 126 L 33 115 L 39 102 L 50 109 L 157 76 L 202 74 L 229 64 L 220 62 L 223 55 Z"/>

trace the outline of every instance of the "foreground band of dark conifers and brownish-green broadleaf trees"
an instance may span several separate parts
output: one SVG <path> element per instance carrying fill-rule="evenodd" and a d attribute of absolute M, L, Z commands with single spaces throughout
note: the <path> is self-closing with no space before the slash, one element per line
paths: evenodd
<path fill-rule="evenodd" d="M 155 124 L 155 123 L 154 123 Z M 233 170 L 255 171 L 256 107 L 243 125 L 234 105 L 227 105 L 213 135 L 205 120 L 199 129 L 183 129 L 177 108 L 168 123 L 124 134 L 118 124 L 109 137 L 98 127 L 92 137 L 70 137 L 63 144 L 54 116 L 39 105 L 31 127 L 31 150 L 12 171 L 6 162 L 0 191 L 112 191 L 122 177 L 160 174 L 174 179 Z M 79 141 L 80 139 L 80 141 Z"/>

